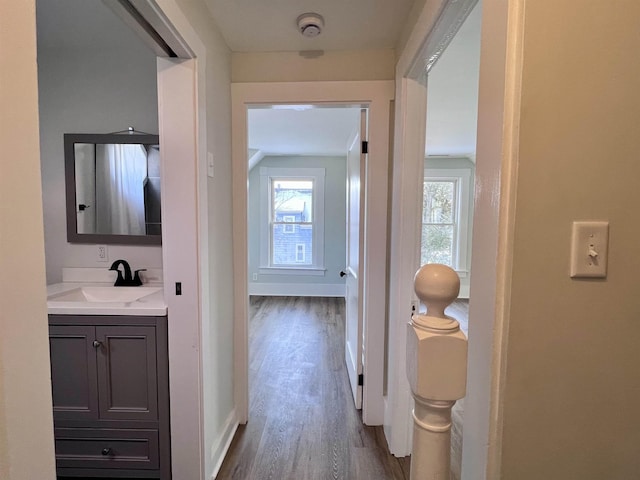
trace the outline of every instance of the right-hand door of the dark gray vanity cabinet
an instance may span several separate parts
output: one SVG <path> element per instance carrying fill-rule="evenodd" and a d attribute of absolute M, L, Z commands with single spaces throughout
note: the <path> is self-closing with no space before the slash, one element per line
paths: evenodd
<path fill-rule="evenodd" d="M 158 420 L 156 329 L 97 326 L 101 420 Z"/>

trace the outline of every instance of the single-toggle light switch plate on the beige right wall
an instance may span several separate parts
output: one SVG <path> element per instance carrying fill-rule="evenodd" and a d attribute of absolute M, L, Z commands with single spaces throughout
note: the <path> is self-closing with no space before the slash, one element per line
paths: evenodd
<path fill-rule="evenodd" d="M 571 232 L 571 278 L 605 278 L 609 222 L 573 222 Z"/>

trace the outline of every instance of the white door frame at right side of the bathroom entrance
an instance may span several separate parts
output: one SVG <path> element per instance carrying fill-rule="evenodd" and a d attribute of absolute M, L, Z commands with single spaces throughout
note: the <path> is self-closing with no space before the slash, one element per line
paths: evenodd
<path fill-rule="evenodd" d="M 206 47 L 175 0 L 134 0 L 180 58 L 158 57 L 162 263 L 168 324 L 171 472 L 205 477 L 202 319 L 209 309 Z M 184 195 L 193 191 L 193 195 Z M 182 283 L 176 295 L 175 283 Z"/>

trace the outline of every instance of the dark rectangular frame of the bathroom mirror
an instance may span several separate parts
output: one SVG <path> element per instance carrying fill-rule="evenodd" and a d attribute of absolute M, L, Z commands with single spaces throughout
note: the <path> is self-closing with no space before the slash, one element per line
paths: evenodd
<path fill-rule="evenodd" d="M 67 203 L 67 241 L 69 243 L 115 244 L 115 245 L 161 245 L 161 235 L 116 235 L 103 233 L 78 233 L 76 217 L 76 143 L 141 143 L 159 145 L 158 135 L 142 133 L 65 133 L 64 134 L 64 168 Z"/>

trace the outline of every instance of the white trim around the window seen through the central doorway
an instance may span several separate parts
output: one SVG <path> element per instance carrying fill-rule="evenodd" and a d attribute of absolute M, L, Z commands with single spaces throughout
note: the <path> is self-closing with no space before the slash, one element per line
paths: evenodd
<path fill-rule="evenodd" d="M 269 229 L 271 178 L 313 179 L 313 219 L 311 265 L 272 265 Z M 261 274 L 324 275 L 324 168 L 260 167 L 260 268 Z"/>

